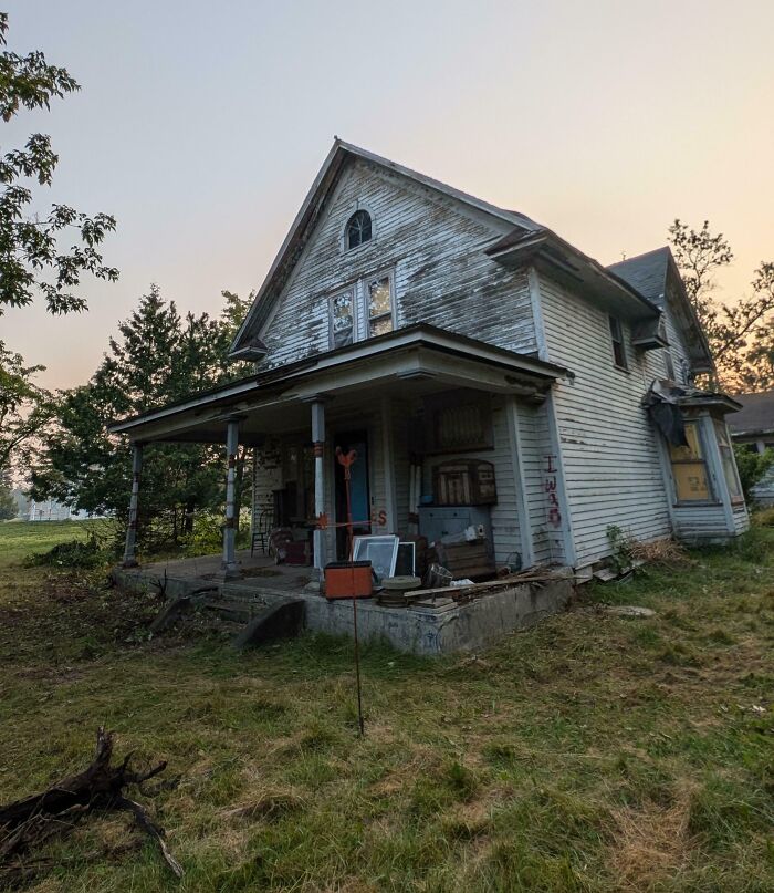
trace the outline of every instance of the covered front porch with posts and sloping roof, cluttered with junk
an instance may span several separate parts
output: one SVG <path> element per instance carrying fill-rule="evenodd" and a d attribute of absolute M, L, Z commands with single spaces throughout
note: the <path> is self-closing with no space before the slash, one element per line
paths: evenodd
<path fill-rule="evenodd" d="M 234 551 L 240 444 L 254 450 L 255 532 L 283 528 L 294 541 L 308 542 L 316 580 L 347 551 L 337 450 L 357 454 L 356 534 L 395 534 L 417 543 L 418 554 L 472 528 L 483 547 L 478 554 L 487 557 L 481 579 L 488 569 L 566 564 L 567 512 L 546 411 L 552 384 L 566 374 L 531 356 L 415 325 L 118 423 L 112 429 L 128 435 L 135 448 L 124 564 L 136 563 L 142 450 L 155 440 L 226 445 L 223 551 L 213 571 L 226 579 L 248 570 Z M 259 538 L 261 553 L 264 547 Z"/>

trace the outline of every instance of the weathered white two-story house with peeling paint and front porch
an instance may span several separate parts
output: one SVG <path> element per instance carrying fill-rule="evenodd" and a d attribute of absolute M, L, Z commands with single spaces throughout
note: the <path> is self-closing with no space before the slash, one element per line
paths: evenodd
<path fill-rule="evenodd" d="M 739 407 L 692 387 L 712 357 L 667 248 L 606 268 L 336 139 L 232 356 L 255 374 L 113 426 L 137 445 L 135 503 L 142 444 L 192 440 L 226 443 L 230 468 L 255 448 L 257 516 L 327 516 L 318 568 L 343 557 L 337 447 L 358 454 L 356 529 L 481 525 L 498 564 L 590 567 L 610 526 L 690 542 L 747 527 Z M 236 572 L 232 499 L 224 540 Z"/>

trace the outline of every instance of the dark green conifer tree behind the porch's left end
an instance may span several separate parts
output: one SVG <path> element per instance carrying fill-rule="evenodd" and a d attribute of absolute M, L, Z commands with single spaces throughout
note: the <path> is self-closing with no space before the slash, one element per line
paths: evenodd
<path fill-rule="evenodd" d="M 33 496 L 125 517 L 130 448 L 107 424 L 226 381 L 232 374 L 224 372 L 226 326 L 206 313 L 182 319 L 151 287 L 109 340 L 88 384 L 60 393 L 55 425 L 33 469 Z M 149 444 L 138 518 L 145 540 L 176 543 L 190 532 L 197 512 L 220 506 L 224 470 L 222 447 Z"/>

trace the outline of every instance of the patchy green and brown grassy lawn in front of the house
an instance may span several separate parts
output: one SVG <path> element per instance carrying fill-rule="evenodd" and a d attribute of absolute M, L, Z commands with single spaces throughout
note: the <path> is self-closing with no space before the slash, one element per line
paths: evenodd
<path fill-rule="evenodd" d="M 28 889 L 774 890 L 773 527 L 475 657 L 368 648 L 364 739 L 349 643 L 148 641 L 151 596 L 21 567 L 72 529 L 0 525 L 0 801 L 82 768 L 104 724 L 180 777 L 137 799 L 186 875 L 94 817 Z"/>

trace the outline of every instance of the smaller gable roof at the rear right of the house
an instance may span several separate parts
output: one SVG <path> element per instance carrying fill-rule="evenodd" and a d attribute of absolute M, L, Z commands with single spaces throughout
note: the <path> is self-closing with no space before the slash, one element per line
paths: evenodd
<path fill-rule="evenodd" d="M 637 289 L 640 294 L 661 310 L 667 307 L 667 290 L 671 283 L 674 287 L 677 301 L 670 309 L 674 312 L 682 329 L 693 370 L 694 372 L 714 372 L 714 361 L 707 335 L 688 297 L 686 283 L 682 281 L 674 256 L 668 246 L 665 245 L 653 251 L 646 251 L 644 255 L 610 263 L 607 269 Z"/>

